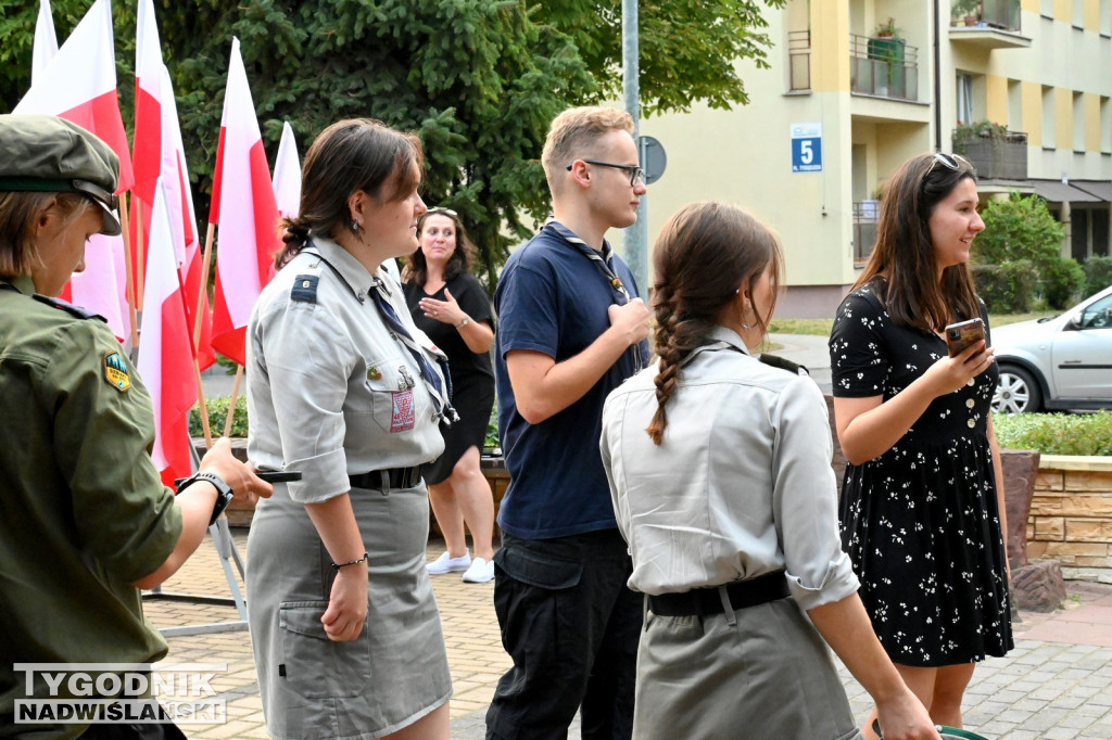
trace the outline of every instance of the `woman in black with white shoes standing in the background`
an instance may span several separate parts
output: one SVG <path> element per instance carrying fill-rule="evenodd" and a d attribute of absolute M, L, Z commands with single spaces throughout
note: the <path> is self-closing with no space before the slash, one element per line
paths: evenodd
<path fill-rule="evenodd" d="M 420 248 L 406 267 L 406 304 L 414 322 L 448 356 L 459 421 L 441 424 L 445 450 L 423 471 L 433 513 L 448 548 L 429 563 L 433 576 L 464 571 L 469 583 L 494 578 L 494 496 L 479 470 L 479 450 L 494 407 L 490 301 L 470 273 L 474 247 L 455 211 L 430 208 L 417 222 Z M 470 557 L 464 523 L 471 531 Z"/>

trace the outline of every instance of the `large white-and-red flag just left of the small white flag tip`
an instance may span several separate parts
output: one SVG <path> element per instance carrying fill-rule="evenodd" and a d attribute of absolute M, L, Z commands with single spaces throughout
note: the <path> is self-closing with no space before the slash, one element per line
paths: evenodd
<path fill-rule="evenodd" d="M 270 168 L 239 39 L 231 41 L 209 222 L 219 228 L 212 348 L 245 364 L 247 322 L 262 287 L 274 277 L 274 256 L 281 249 L 281 240 Z"/>

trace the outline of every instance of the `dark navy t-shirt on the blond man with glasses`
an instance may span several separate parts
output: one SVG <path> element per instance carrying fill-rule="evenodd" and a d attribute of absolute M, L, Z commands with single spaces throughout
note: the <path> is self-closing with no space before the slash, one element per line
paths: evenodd
<path fill-rule="evenodd" d="M 615 256 L 613 268 L 636 297 L 628 266 Z M 498 427 L 510 474 L 498 524 L 514 537 L 535 540 L 616 528 L 598 453 L 603 402 L 637 372 L 638 350 L 641 362 L 648 361 L 648 342 L 626 350 L 575 403 L 530 424 L 517 413 L 506 353 L 532 350 L 556 362 L 575 357 L 609 328 L 607 309 L 624 299 L 597 263 L 548 224 L 506 261 L 494 302 Z"/>

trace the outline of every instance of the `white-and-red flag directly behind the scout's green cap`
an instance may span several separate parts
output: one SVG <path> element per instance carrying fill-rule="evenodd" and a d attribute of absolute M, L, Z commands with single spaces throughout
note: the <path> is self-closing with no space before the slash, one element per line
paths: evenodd
<path fill-rule="evenodd" d="M 112 41 L 112 9 L 109 0 L 96 0 L 58 53 L 12 113 L 58 116 L 97 134 L 120 158 L 120 179 L 116 192 L 131 188 L 133 174 L 128 154 L 116 91 L 116 58 Z M 117 264 L 123 263 L 123 240 L 98 234 L 86 247 L 86 269 L 73 276 L 62 298 L 108 319 L 120 339 L 130 332 L 127 316 L 126 281 Z"/>

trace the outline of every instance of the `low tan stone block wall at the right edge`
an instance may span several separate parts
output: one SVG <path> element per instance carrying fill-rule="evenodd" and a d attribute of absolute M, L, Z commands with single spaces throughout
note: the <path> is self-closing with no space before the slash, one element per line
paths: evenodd
<path fill-rule="evenodd" d="M 1027 557 L 1058 560 L 1070 579 L 1112 583 L 1112 458 L 1042 457 Z"/>

